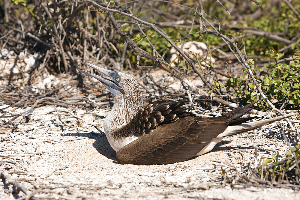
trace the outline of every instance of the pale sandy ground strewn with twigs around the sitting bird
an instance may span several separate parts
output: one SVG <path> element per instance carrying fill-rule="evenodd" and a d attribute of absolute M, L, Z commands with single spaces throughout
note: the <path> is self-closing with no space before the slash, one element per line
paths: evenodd
<path fill-rule="evenodd" d="M 253 142 L 282 155 L 289 150 L 282 140 L 269 136 L 273 133 L 267 127 L 227 137 L 211 152 L 182 163 L 122 165 L 105 136 L 98 136 L 90 125 L 74 127 L 74 121 L 67 123 L 70 119 L 63 113 L 46 114 L 54 109 L 63 108 L 36 109 L 32 124 L 18 126 L 25 134 L 16 132 L 10 135 L 14 142 L 0 144 L 2 169 L 10 166 L 11 178 L 29 190 L 42 191 L 36 194 L 41 199 L 299 199 L 299 190 L 222 181 L 222 169 L 231 170 L 230 174 L 245 170 L 248 162 L 253 164 Z M 103 130 L 103 120 L 91 124 Z M 268 127 L 272 126 L 274 131 L 275 124 Z M 3 132 L 3 136 L 7 135 Z M 258 160 L 273 153 L 259 151 Z M 1 188 L 0 199 L 18 197 L 8 192 L 11 186 L 2 183 Z"/>

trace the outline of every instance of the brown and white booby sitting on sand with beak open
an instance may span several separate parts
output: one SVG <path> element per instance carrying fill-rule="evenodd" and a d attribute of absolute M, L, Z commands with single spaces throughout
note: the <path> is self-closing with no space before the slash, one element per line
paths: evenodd
<path fill-rule="evenodd" d="M 183 162 L 211 151 L 225 136 L 232 136 L 298 113 L 255 122 L 240 118 L 256 103 L 219 117 L 198 117 L 180 103 L 161 99 L 143 108 L 137 81 L 128 74 L 86 64 L 110 79 L 79 70 L 98 79 L 113 96 L 113 108 L 104 121 L 104 133 L 122 164 L 152 165 Z"/>

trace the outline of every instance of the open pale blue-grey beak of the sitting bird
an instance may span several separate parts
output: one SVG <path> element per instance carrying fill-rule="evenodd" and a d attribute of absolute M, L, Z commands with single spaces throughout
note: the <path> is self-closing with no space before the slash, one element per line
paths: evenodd
<path fill-rule="evenodd" d="M 85 73 L 86 75 L 89 75 L 89 76 L 94 77 L 95 79 L 99 80 L 103 85 L 105 85 L 105 87 L 107 87 L 107 89 L 113 95 L 119 94 L 121 92 L 119 84 L 117 82 L 114 82 L 114 79 L 113 79 L 113 77 L 116 76 L 118 74 L 118 72 L 103 69 L 101 67 L 98 67 L 96 65 L 93 65 L 93 64 L 90 64 L 90 63 L 87 63 L 87 62 L 80 62 L 80 63 L 86 64 L 87 66 L 90 66 L 91 68 L 94 68 L 95 70 L 103 73 L 105 76 L 110 77 L 112 80 L 103 78 L 101 76 L 98 76 L 96 74 L 89 73 L 89 72 L 86 72 L 86 71 L 83 71 L 83 70 L 79 70 L 80 72 Z"/>

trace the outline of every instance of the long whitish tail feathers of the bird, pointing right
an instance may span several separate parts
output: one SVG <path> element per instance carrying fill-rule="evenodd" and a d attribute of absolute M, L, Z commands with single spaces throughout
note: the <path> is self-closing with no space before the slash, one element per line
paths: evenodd
<path fill-rule="evenodd" d="M 245 123 L 245 124 L 238 124 L 238 125 L 228 126 L 228 128 L 223 133 L 220 133 L 220 135 L 218 135 L 218 138 L 219 137 L 225 137 L 225 136 L 233 136 L 233 135 L 236 135 L 236 134 L 239 134 L 239 133 L 244 133 L 244 132 L 247 132 L 247 131 L 250 131 L 250 130 L 260 128 L 264 125 L 271 124 L 275 121 L 279 121 L 279 120 L 289 118 L 291 116 L 299 115 L 299 114 L 300 114 L 300 112 L 296 112 L 296 113 L 291 113 L 291 114 L 288 114 L 288 115 L 279 116 L 279 117 L 275 117 L 275 118 L 271 118 L 271 119 L 264 119 L 264 120 L 255 121 L 255 122 L 248 122 L 248 123 Z"/>

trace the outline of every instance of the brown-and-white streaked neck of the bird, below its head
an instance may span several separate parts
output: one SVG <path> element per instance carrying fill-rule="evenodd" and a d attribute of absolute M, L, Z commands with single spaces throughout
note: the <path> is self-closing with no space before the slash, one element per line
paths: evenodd
<path fill-rule="evenodd" d="M 142 92 L 135 95 L 123 93 L 113 95 L 113 108 L 105 121 L 112 124 L 111 128 L 123 127 L 142 109 L 142 106 Z"/>

